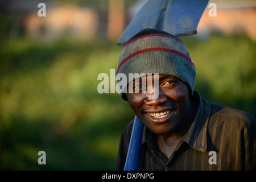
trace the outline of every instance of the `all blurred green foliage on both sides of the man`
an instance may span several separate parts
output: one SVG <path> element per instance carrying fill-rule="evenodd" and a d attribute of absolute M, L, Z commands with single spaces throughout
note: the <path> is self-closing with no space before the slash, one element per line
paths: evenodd
<path fill-rule="evenodd" d="M 246 36 L 181 38 L 206 100 L 256 115 L 256 44 Z M 100 73 L 121 47 L 104 39 L 0 42 L 0 169 L 112 170 L 123 127 L 134 117 L 117 93 L 99 94 Z M 46 165 L 38 152 L 46 152 Z"/>

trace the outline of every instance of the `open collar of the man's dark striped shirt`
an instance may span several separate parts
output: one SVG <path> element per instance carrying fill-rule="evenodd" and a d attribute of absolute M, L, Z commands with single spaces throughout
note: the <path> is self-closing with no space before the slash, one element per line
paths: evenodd
<path fill-rule="evenodd" d="M 182 140 L 196 150 L 207 151 L 207 129 L 210 116 L 210 105 L 195 90 L 192 99 L 199 103 L 199 107 L 191 127 L 189 127 Z M 148 130 L 147 127 L 144 127 L 142 144 L 147 142 L 151 147 L 156 147 L 152 136 L 152 132 Z"/>

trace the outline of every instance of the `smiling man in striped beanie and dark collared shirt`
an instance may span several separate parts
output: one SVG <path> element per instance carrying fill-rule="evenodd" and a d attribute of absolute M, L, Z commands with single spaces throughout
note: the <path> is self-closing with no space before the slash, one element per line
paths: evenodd
<path fill-rule="evenodd" d="M 193 90 L 196 68 L 180 39 L 142 30 L 122 48 L 119 73 L 138 73 L 120 96 L 144 123 L 139 170 L 256 169 L 255 118 L 207 102 Z M 149 99 L 153 88 L 158 97 Z M 133 121 L 122 133 L 118 170 L 125 166 L 132 127 Z"/>

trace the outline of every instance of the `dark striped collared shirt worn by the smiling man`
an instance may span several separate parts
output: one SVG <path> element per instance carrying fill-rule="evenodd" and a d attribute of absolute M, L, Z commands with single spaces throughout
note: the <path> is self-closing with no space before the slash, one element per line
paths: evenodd
<path fill-rule="evenodd" d="M 256 170 L 256 121 L 245 111 L 213 104 L 194 91 L 195 119 L 170 158 L 144 127 L 139 170 Z M 123 130 L 117 169 L 123 170 L 133 121 Z"/>

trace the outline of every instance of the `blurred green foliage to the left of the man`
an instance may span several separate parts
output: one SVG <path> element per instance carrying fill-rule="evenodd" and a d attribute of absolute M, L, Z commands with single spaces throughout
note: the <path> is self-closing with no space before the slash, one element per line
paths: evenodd
<path fill-rule="evenodd" d="M 120 50 L 102 40 L 1 42 L 0 169 L 114 169 L 133 114 L 118 94 L 97 92 L 97 76 L 110 75 Z"/>

